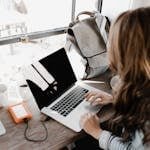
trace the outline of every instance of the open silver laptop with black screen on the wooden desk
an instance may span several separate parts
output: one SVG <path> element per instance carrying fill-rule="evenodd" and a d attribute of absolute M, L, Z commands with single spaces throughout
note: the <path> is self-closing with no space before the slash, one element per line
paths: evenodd
<path fill-rule="evenodd" d="M 81 116 L 99 111 L 84 100 L 85 93 L 98 89 L 77 81 L 64 48 L 22 71 L 40 111 L 66 127 L 79 132 Z"/>

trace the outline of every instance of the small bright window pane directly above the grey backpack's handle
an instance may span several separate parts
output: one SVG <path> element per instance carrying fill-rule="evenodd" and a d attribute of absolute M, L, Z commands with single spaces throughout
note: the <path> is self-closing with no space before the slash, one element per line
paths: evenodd
<path fill-rule="evenodd" d="M 76 0 L 76 13 L 77 15 L 81 11 L 93 11 L 97 10 L 98 0 Z"/>

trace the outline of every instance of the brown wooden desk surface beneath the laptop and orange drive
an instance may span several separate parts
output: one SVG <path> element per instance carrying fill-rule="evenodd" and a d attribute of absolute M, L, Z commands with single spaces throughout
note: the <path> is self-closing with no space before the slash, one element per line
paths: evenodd
<path fill-rule="evenodd" d="M 108 76 L 100 76 L 98 78 L 93 78 L 92 80 L 106 80 Z M 109 87 L 107 84 L 92 84 L 90 85 L 109 92 Z M 38 139 L 45 136 L 45 130 L 41 125 L 40 118 L 41 113 L 35 103 L 35 101 L 27 101 L 30 111 L 33 114 L 32 120 L 29 122 L 31 138 Z M 107 120 L 111 114 L 110 108 L 102 111 L 100 114 L 101 121 Z M 0 149 L 3 150 L 59 150 L 67 144 L 72 143 L 76 139 L 83 136 L 83 132 L 76 133 L 67 127 L 61 125 L 60 123 L 49 120 L 45 122 L 48 129 L 48 138 L 44 142 L 29 142 L 24 138 L 24 130 L 26 127 L 25 123 L 15 124 L 10 114 L 5 108 L 0 109 L 0 120 L 3 122 L 6 128 L 6 134 L 0 136 Z"/>

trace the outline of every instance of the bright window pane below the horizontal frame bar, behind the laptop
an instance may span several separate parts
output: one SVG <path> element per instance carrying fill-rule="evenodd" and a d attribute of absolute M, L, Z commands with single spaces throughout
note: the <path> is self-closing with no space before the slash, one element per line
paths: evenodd
<path fill-rule="evenodd" d="M 31 64 L 64 47 L 65 34 L 34 40 L 30 43 L 15 43 L 0 46 L 0 82 L 20 82 L 20 67 Z M 19 83 L 20 84 L 20 83 Z"/>

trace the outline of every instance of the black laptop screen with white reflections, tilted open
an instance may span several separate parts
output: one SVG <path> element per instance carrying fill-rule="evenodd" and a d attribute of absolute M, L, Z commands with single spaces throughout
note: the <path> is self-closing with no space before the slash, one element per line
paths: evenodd
<path fill-rule="evenodd" d="M 64 48 L 24 67 L 23 74 L 39 109 L 51 104 L 76 82 Z"/>

